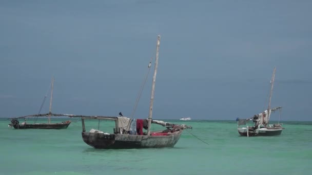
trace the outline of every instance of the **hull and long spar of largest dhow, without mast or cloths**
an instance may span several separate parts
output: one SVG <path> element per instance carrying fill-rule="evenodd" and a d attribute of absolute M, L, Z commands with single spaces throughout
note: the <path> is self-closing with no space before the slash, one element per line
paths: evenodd
<path fill-rule="evenodd" d="M 139 135 L 138 133 L 131 134 L 127 129 L 122 130 L 123 127 L 119 125 L 119 120 L 121 120 L 119 117 L 78 115 L 73 115 L 70 117 L 81 118 L 83 141 L 94 148 L 100 149 L 173 147 L 179 141 L 183 129 L 191 128 L 191 126 L 175 125 L 163 121 L 152 120 L 151 123 L 165 125 L 166 129 L 150 132 L 149 135 L 147 132 Z M 90 132 L 86 132 L 86 119 L 112 120 L 115 122 L 115 127 L 112 129 L 114 132 L 109 134 L 95 129 L 91 129 Z M 144 120 L 147 121 L 148 119 Z M 135 120 L 132 119 L 132 122 L 135 122 Z"/>

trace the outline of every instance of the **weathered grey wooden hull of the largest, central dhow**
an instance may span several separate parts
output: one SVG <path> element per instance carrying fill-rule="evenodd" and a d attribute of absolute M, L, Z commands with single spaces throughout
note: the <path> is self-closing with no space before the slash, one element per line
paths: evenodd
<path fill-rule="evenodd" d="M 180 139 L 182 130 L 169 136 L 124 135 L 82 133 L 86 144 L 98 149 L 131 149 L 173 147 Z"/>

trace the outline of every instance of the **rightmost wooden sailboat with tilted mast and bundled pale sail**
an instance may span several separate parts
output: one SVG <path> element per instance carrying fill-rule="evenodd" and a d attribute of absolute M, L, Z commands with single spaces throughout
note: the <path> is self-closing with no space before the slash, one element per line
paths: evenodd
<path fill-rule="evenodd" d="M 273 75 L 271 78 L 271 88 L 269 95 L 268 108 L 264 112 L 254 115 L 249 119 L 239 119 L 238 122 L 238 133 L 241 136 L 278 136 L 281 135 L 282 130 L 285 129 L 282 127 L 282 124 L 269 124 L 271 112 L 279 110 L 281 112 L 282 107 L 271 108 L 271 96 L 273 91 L 274 79 L 275 79 L 276 68 L 274 68 Z M 255 124 L 251 126 L 245 126 L 247 122 L 253 121 Z M 243 127 L 240 127 L 243 126 Z"/>

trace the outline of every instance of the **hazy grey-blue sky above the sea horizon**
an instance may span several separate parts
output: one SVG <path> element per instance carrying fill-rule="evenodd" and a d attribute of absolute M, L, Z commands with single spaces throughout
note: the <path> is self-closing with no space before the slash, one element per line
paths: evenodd
<path fill-rule="evenodd" d="M 312 1 L 0 1 L 0 117 L 130 116 L 161 35 L 154 119 L 312 121 Z M 154 63 L 153 63 L 154 64 Z M 153 65 L 152 64 L 152 65 Z M 147 118 L 153 69 L 134 118 Z M 279 114 L 271 115 L 279 120 Z"/>

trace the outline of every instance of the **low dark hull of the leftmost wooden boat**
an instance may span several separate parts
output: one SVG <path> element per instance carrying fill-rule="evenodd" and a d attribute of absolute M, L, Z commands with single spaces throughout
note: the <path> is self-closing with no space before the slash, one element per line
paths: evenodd
<path fill-rule="evenodd" d="M 35 123 L 35 124 L 18 124 L 13 125 L 15 129 L 66 129 L 70 121 L 64 123 Z"/>

